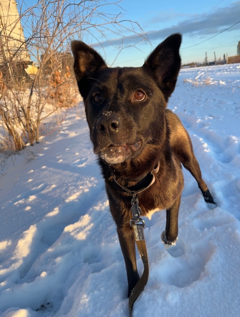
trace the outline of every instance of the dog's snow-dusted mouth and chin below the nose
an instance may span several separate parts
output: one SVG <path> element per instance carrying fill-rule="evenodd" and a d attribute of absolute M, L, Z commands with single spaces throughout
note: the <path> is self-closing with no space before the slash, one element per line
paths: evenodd
<path fill-rule="evenodd" d="M 95 154 L 110 165 L 119 164 L 134 157 L 139 152 L 141 146 L 142 141 L 138 141 L 134 144 L 110 144 L 105 149 Z"/>

